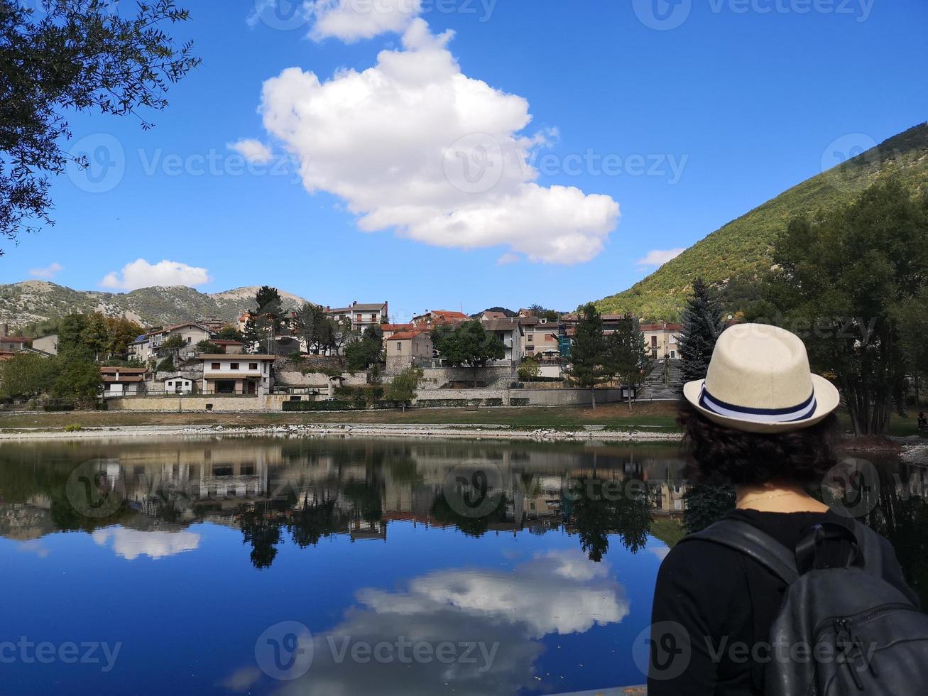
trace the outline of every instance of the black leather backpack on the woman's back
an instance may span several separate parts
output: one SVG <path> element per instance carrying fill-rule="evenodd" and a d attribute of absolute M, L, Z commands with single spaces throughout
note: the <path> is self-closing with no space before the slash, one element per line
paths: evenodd
<path fill-rule="evenodd" d="M 842 568 L 820 568 L 823 542 L 851 544 Z M 928 615 L 883 579 L 883 538 L 855 522 L 811 528 L 795 551 L 754 525 L 721 520 L 701 539 L 750 556 L 787 590 L 770 635 L 767 696 L 914 696 L 928 693 Z"/>

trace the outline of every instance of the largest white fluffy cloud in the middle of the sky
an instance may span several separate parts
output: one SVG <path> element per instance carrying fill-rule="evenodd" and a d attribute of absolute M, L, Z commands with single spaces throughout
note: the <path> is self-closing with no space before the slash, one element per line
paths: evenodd
<path fill-rule="evenodd" d="M 393 228 L 436 246 L 504 246 L 574 264 L 602 250 L 619 205 L 576 187 L 542 187 L 522 135 L 528 102 L 464 75 L 413 19 L 401 50 L 321 82 L 290 68 L 264 83 L 264 127 L 300 161 L 303 185 L 345 200 L 365 231 Z"/>

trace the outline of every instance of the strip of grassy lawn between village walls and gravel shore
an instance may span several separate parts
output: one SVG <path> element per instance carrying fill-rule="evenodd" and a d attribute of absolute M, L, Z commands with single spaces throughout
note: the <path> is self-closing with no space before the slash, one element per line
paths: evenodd
<path fill-rule="evenodd" d="M 604 425 L 618 430 L 644 428 L 676 431 L 677 407 L 670 402 L 633 406 L 606 404 L 585 406 L 521 406 L 514 408 L 422 408 L 402 411 L 343 413 L 137 413 L 134 411 L 73 411 L 70 413 L 0 414 L 0 430 L 22 428 L 84 428 L 121 425 L 226 425 L 268 426 L 300 423 L 457 423 L 494 424 L 513 428 L 576 428 Z"/>

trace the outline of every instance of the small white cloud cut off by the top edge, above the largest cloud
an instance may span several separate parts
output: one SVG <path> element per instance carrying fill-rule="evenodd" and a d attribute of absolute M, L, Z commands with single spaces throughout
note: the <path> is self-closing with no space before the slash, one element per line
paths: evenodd
<path fill-rule="evenodd" d="M 404 32 L 419 16 L 421 0 L 316 0 L 311 3 L 316 21 L 310 36 L 329 36 L 352 43 L 385 32 Z"/>

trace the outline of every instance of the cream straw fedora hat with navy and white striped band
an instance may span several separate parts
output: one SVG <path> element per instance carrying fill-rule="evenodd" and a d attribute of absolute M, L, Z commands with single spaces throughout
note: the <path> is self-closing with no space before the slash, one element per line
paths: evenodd
<path fill-rule="evenodd" d="M 786 329 L 736 324 L 718 337 L 704 380 L 683 385 L 708 419 L 745 432 L 808 428 L 838 407 L 838 390 L 809 371 L 806 345 Z"/>

